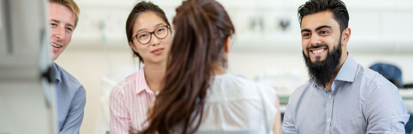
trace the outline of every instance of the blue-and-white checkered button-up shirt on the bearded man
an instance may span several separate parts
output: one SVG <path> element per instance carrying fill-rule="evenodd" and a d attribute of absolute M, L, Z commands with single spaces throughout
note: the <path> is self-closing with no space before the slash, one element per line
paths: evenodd
<path fill-rule="evenodd" d="M 288 100 L 281 134 L 405 134 L 399 90 L 349 54 L 329 92 L 314 80 Z"/>

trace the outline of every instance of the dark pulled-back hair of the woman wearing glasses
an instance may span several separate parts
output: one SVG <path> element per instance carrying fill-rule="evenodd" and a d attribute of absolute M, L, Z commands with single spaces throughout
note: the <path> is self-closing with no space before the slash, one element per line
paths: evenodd
<path fill-rule="evenodd" d="M 164 20 L 169 27 L 171 27 L 171 24 L 169 24 L 168 19 L 166 18 L 165 13 L 161 8 L 159 8 L 157 5 L 154 5 L 152 2 L 139 2 L 135 5 L 135 7 L 133 7 L 131 13 L 128 16 L 128 19 L 126 20 L 126 37 L 128 38 L 128 42 L 132 42 L 133 24 L 135 24 L 136 18 L 138 18 L 140 14 L 145 12 L 154 12 L 159 17 L 161 17 L 161 19 Z M 138 52 L 133 51 L 133 49 L 132 52 L 134 57 L 139 58 L 139 63 L 143 62 L 143 59 Z"/>

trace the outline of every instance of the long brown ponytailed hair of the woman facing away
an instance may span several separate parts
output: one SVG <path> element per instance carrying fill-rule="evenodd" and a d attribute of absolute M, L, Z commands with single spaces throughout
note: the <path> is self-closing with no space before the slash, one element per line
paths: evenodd
<path fill-rule="evenodd" d="M 150 125 L 142 134 L 170 134 L 176 132 L 178 125 L 182 125 L 183 134 L 198 129 L 201 120 L 196 118 L 202 119 L 211 64 L 226 62 L 225 40 L 235 32 L 227 12 L 215 0 L 182 2 L 173 24 L 175 36 L 165 87 L 150 111 Z"/>

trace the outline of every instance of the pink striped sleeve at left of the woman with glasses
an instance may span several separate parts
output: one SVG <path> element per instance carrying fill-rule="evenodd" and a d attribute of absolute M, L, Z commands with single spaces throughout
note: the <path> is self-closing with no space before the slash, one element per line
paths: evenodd
<path fill-rule="evenodd" d="M 131 117 L 119 87 L 114 87 L 109 97 L 110 134 L 129 134 L 132 128 Z"/>

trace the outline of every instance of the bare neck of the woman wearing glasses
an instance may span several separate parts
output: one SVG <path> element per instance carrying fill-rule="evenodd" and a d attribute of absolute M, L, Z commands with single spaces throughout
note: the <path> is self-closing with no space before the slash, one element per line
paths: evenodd
<path fill-rule="evenodd" d="M 149 88 L 153 92 L 157 92 L 163 87 L 163 80 L 166 73 L 166 62 L 162 63 L 145 63 L 143 68 L 145 79 Z"/>

